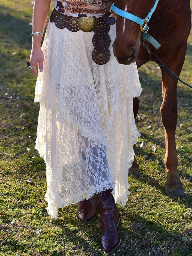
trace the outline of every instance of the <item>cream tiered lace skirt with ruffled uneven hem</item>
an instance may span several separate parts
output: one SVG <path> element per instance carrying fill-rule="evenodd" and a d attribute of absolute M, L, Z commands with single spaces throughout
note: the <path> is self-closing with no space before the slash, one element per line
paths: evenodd
<path fill-rule="evenodd" d="M 89 199 L 113 188 L 117 204 L 129 195 L 128 172 L 138 140 L 132 98 L 141 85 L 136 64 L 117 63 L 112 50 L 116 25 L 109 31 L 111 59 L 92 61 L 93 32 L 71 32 L 48 24 L 38 72 L 40 102 L 36 149 L 47 172 L 47 211 Z"/>

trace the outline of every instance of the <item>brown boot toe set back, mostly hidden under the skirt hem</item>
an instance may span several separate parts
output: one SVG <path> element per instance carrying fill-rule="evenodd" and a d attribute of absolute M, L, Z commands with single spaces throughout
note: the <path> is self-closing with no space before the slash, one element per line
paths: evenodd
<path fill-rule="evenodd" d="M 90 222 L 96 217 L 96 208 L 92 198 L 80 201 L 77 206 L 77 219 L 82 222 Z"/>

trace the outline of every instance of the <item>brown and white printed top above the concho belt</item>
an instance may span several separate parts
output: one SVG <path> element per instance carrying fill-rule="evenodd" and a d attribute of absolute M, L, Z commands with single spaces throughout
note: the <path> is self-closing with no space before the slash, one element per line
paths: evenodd
<path fill-rule="evenodd" d="M 68 16 L 88 17 L 110 12 L 113 0 L 58 0 L 54 8 Z"/>

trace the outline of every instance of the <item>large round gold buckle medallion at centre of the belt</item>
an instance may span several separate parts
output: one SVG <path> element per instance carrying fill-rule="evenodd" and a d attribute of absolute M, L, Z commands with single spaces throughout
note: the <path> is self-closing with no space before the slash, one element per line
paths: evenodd
<path fill-rule="evenodd" d="M 97 27 L 97 18 L 92 17 L 81 17 L 78 19 L 78 26 L 84 32 L 91 32 Z"/>

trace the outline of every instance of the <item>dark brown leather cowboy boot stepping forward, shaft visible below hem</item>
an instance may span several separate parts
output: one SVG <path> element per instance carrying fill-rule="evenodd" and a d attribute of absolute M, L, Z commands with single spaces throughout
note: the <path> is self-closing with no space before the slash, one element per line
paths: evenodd
<path fill-rule="evenodd" d="M 108 254 L 121 243 L 117 232 L 121 228 L 121 216 L 111 192 L 112 189 L 108 189 L 93 196 L 100 218 L 100 243 L 103 252 Z"/>

